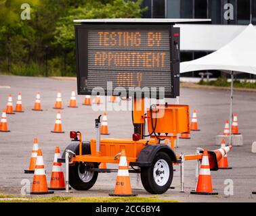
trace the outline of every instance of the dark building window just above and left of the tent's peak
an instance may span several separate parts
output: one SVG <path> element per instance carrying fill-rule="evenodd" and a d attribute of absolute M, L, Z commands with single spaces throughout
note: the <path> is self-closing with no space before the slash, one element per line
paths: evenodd
<path fill-rule="evenodd" d="M 237 24 L 250 23 L 250 0 L 237 0 Z"/>

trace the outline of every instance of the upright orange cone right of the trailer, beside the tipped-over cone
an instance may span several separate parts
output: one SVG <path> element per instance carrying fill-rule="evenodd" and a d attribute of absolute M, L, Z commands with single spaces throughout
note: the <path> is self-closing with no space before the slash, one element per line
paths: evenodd
<path fill-rule="evenodd" d="M 191 191 L 190 194 L 201 195 L 215 195 L 217 192 L 213 192 L 213 186 L 211 184 L 211 171 L 209 166 L 209 158 L 207 150 L 204 150 L 202 154 L 202 163 L 200 167 L 200 173 L 196 185 L 196 190 Z"/>

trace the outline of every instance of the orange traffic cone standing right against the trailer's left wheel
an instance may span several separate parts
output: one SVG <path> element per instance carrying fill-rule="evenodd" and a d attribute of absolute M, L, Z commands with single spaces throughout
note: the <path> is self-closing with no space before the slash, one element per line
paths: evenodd
<path fill-rule="evenodd" d="M 62 171 L 62 163 L 58 162 L 60 157 L 60 148 L 56 146 L 54 154 L 54 164 L 51 171 L 51 182 L 49 190 L 65 190 L 64 173 Z"/>

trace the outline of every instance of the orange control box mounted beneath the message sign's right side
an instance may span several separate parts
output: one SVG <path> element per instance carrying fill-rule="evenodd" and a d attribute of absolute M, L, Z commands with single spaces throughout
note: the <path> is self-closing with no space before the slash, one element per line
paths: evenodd
<path fill-rule="evenodd" d="M 152 113 L 152 116 L 151 116 Z M 182 134 L 190 132 L 190 107 L 188 105 L 156 105 L 147 110 L 148 132 L 155 126 L 156 134 Z M 163 134 L 162 134 L 163 133 Z"/>

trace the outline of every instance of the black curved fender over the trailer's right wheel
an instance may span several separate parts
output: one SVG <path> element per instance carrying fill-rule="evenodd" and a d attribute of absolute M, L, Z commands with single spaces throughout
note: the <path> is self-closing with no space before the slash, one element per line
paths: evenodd
<path fill-rule="evenodd" d="M 149 167 L 152 164 L 156 153 L 158 153 L 159 151 L 167 153 L 173 163 L 177 162 L 175 153 L 166 144 L 149 144 L 142 149 L 140 155 L 137 157 L 137 161 L 131 162 L 130 165 L 138 167 Z"/>

